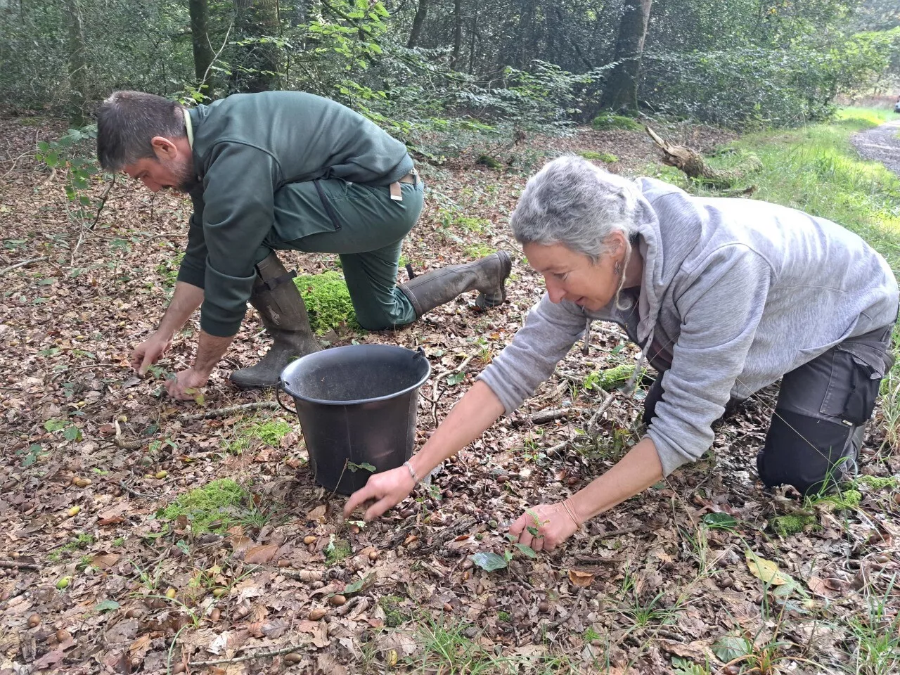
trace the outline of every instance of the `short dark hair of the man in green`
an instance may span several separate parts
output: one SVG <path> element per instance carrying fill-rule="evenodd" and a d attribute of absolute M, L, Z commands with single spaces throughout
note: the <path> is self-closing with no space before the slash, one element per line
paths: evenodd
<path fill-rule="evenodd" d="M 155 157 L 156 136 L 187 135 L 184 108 L 156 94 L 113 92 L 97 111 L 97 159 L 106 171 L 121 171 L 145 157 Z"/>

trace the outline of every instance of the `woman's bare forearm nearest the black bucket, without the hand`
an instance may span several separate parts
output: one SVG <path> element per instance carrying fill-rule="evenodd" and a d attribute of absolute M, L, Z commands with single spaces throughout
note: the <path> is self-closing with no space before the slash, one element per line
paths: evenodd
<path fill-rule="evenodd" d="M 478 381 L 437 427 L 428 443 L 410 459 L 412 468 L 425 477 L 438 464 L 480 437 L 503 413 L 503 404 L 487 384 Z"/>

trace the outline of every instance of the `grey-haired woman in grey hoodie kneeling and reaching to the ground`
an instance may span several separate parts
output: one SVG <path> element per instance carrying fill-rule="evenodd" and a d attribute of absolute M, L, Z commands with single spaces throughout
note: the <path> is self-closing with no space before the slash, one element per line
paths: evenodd
<path fill-rule="evenodd" d="M 510 527 L 521 544 L 553 549 L 698 460 L 716 419 L 779 378 L 756 458 L 762 482 L 810 493 L 855 473 L 894 362 L 897 316 L 896 279 L 860 237 L 776 204 L 626 180 L 580 157 L 533 176 L 510 225 L 547 292 L 428 443 L 407 465 L 371 476 L 347 515 L 374 500 L 365 518 L 377 518 L 516 410 L 591 320 L 623 326 L 661 374 L 644 400 L 646 433 L 572 497 L 528 509 Z"/>

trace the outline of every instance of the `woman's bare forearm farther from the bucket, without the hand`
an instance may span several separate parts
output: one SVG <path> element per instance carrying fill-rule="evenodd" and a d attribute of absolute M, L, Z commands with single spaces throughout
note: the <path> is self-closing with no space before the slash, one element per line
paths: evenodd
<path fill-rule="evenodd" d="M 644 437 L 618 463 L 572 496 L 581 522 L 594 518 L 662 479 L 662 464 L 650 437 Z"/>

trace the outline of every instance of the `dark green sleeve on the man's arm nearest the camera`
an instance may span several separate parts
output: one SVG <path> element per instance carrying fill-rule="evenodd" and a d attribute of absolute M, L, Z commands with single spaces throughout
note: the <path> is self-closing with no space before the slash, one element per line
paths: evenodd
<path fill-rule="evenodd" d="M 207 249 L 200 327 L 235 335 L 256 278 L 257 250 L 272 228 L 281 169 L 268 152 L 225 141 L 211 148 L 203 176 L 203 238 Z"/>

